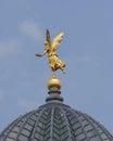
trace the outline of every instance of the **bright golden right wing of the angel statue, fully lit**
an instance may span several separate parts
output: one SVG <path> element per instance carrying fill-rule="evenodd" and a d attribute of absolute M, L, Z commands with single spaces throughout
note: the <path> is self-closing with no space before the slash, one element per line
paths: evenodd
<path fill-rule="evenodd" d="M 51 48 L 52 50 L 56 50 L 60 47 L 60 42 L 62 41 L 64 33 L 60 33 L 52 41 Z"/>

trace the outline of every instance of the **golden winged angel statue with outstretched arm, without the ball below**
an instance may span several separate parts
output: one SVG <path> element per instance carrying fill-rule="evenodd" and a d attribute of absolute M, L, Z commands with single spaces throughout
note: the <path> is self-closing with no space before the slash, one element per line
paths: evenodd
<path fill-rule="evenodd" d="M 52 75 L 55 76 L 55 70 L 56 69 L 61 69 L 63 73 L 65 73 L 65 63 L 62 62 L 58 54 L 56 54 L 56 50 L 60 47 L 60 42 L 62 41 L 64 36 L 64 33 L 60 33 L 51 42 L 51 37 L 50 37 L 50 31 L 47 29 L 46 33 L 46 41 L 45 41 L 45 51 L 42 54 L 36 54 L 36 56 L 43 56 L 45 54 L 48 54 L 48 59 L 49 59 L 49 64 L 50 67 L 52 69 Z"/>

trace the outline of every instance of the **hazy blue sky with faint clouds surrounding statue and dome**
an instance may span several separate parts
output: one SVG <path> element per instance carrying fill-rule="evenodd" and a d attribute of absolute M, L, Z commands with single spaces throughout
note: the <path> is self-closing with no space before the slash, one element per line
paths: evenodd
<path fill-rule="evenodd" d="M 64 103 L 87 113 L 113 134 L 113 1 L 0 0 L 0 131 L 45 104 L 51 77 L 46 29 L 65 36 L 58 53 L 66 63 Z"/>

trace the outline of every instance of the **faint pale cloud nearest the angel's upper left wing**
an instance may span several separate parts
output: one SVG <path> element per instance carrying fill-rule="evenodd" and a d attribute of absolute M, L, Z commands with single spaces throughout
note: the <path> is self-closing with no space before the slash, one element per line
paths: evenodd
<path fill-rule="evenodd" d="M 24 35 L 29 36 L 34 40 L 41 40 L 42 35 L 40 29 L 38 28 L 38 25 L 30 21 L 24 21 L 20 26 L 21 31 Z"/>

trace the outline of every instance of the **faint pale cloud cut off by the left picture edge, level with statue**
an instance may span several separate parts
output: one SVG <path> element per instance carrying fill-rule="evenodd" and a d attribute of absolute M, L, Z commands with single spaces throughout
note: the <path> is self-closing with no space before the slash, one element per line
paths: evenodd
<path fill-rule="evenodd" d="M 20 42 L 17 40 L 0 41 L 0 57 L 15 54 L 18 51 Z"/>

